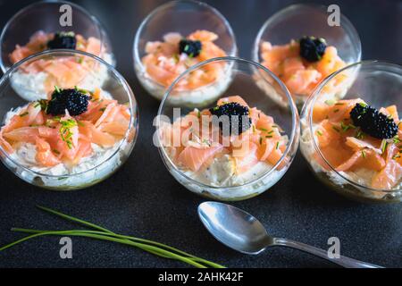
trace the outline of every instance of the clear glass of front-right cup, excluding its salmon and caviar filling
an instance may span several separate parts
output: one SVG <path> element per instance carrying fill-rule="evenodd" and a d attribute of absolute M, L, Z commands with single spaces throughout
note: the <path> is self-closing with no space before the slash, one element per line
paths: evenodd
<path fill-rule="evenodd" d="M 338 100 L 339 97 L 328 93 L 337 80 L 353 75 L 351 85 L 343 87 L 343 99 L 362 98 L 364 102 L 376 108 L 397 105 L 399 114 L 402 110 L 402 67 L 397 64 L 364 61 L 354 63 L 333 73 L 314 90 L 306 101 L 301 114 L 300 149 L 314 174 L 331 189 L 348 198 L 376 202 L 398 202 L 402 200 L 402 189 L 373 189 L 360 177 L 352 177 L 348 172 L 338 172 L 329 163 L 319 147 L 317 135 L 314 134 L 314 106 L 325 100 Z M 330 87 L 330 88 L 329 88 Z M 317 158 L 322 164 L 317 163 Z M 326 166 L 323 168 L 323 166 Z M 354 178 L 354 179 L 353 179 Z"/>

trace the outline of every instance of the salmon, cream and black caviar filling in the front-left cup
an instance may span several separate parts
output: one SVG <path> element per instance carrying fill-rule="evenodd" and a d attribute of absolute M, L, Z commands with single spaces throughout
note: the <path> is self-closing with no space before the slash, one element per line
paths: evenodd
<path fill-rule="evenodd" d="M 89 91 L 55 87 L 49 99 L 5 114 L 0 144 L 13 162 L 32 172 L 57 176 L 44 181 L 44 187 L 57 187 L 63 184 L 60 178 L 69 181 L 71 174 L 93 169 L 119 150 L 125 152 L 130 113 L 128 105 L 118 104 L 100 88 Z M 104 166 L 107 170 L 96 173 L 102 176 L 120 164 L 119 158 L 109 160 Z M 96 180 L 96 174 L 90 180 Z M 88 177 L 82 175 L 70 183 L 80 186 L 87 181 Z"/>

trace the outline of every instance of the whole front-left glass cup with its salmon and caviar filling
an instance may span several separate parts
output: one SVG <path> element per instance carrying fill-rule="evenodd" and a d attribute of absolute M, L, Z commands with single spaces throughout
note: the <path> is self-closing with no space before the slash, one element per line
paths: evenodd
<path fill-rule="evenodd" d="M 65 64 L 70 70 L 64 74 Z M 49 66 L 60 71 L 48 79 L 57 83 L 53 88 L 40 77 L 34 77 L 36 84 L 21 80 L 25 72 Z M 102 82 L 96 71 L 104 73 Z M 82 80 L 99 85 L 81 88 Z M 32 98 L 43 85 L 47 99 Z M 41 188 L 83 189 L 105 180 L 137 139 L 138 107 L 130 86 L 112 65 L 88 53 L 47 50 L 21 60 L 0 80 L 0 103 L 1 160 Z"/>

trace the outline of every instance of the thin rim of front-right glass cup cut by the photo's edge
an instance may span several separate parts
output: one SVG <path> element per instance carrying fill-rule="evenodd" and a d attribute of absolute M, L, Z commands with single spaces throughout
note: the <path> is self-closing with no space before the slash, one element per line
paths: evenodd
<path fill-rule="evenodd" d="M 315 149 L 315 151 L 318 152 L 318 154 L 324 160 L 324 162 L 330 166 L 331 171 L 333 171 L 336 174 L 338 174 L 343 180 L 347 181 L 349 184 L 353 185 L 356 188 L 365 189 L 365 190 L 369 190 L 369 191 L 372 191 L 372 192 L 394 193 L 394 192 L 400 191 L 401 189 L 374 189 L 374 188 L 371 188 L 371 187 L 368 187 L 368 186 L 364 186 L 364 185 L 362 185 L 362 184 L 360 184 L 360 183 L 358 183 L 356 181 L 352 181 L 352 180 L 348 179 L 348 177 L 345 177 L 340 172 L 338 172 L 336 170 L 336 168 L 334 166 L 332 166 L 330 164 L 330 162 L 325 158 L 325 156 L 323 156 L 322 151 L 321 151 L 321 149 L 319 147 L 319 144 L 318 144 L 317 140 L 315 139 L 314 130 L 313 130 L 313 109 L 314 109 L 313 107 L 314 107 L 314 104 L 315 104 L 315 100 L 321 94 L 322 88 L 330 80 L 335 78 L 337 75 L 339 75 L 339 73 L 341 73 L 343 71 L 346 71 L 346 70 L 351 69 L 351 68 L 359 68 L 359 66 L 363 66 L 363 65 L 367 65 L 367 64 L 373 64 L 373 63 L 385 65 L 385 66 L 388 66 L 390 68 L 402 69 L 402 65 L 399 65 L 397 63 L 389 63 L 389 62 L 382 61 L 382 60 L 381 61 L 378 61 L 378 60 L 364 60 L 364 61 L 357 62 L 357 63 L 351 63 L 351 64 L 343 67 L 339 71 L 335 71 L 335 72 L 331 73 L 331 75 L 329 75 L 327 78 L 322 80 L 322 82 L 316 88 L 314 88 L 313 93 L 307 99 L 307 100 L 312 100 L 311 103 L 309 104 L 309 106 L 311 106 L 311 107 L 308 107 L 308 106 L 305 105 L 303 108 L 308 108 L 308 110 L 303 111 L 302 114 L 304 112 L 308 112 L 306 118 L 307 118 L 308 129 L 309 129 L 309 131 L 310 131 L 310 133 L 312 134 L 312 137 L 313 137 L 314 149 Z"/>

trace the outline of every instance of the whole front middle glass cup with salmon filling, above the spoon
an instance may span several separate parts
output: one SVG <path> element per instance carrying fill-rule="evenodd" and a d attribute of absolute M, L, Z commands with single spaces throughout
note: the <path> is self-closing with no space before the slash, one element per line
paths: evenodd
<path fill-rule="evenodd" d="M 170 104 L 169 97 L 180 80 L 205 66 L 219 64 L 232 66 L 233 80 L 217 103 L 206 108 Z M 264 97 L 257 86 L 260 77 L 286 97 L 289 105 Z M 238 125 L 236 118 L 240 117 L 234 115 L 227 133 L 224 127 L 228 125 L 214 122 L 225 120 L 224 114 L 216 115 L 221 112 L 246 117 Z M 206 130 L 197 129 L 197 122 Z M 215 58 L 183 72 L 167 89 L 155 121 L 155 143 L 163 163 L 185 188 L 207 198 L 242 200 L 270 189 L 288 170 L 297 151 L 298 122 L 288 89 L 272 71 L 237 57 Z M 241 126 L 238 133 L 234 131 L 237 126 Z"/>

